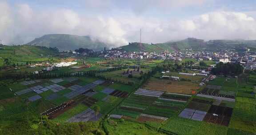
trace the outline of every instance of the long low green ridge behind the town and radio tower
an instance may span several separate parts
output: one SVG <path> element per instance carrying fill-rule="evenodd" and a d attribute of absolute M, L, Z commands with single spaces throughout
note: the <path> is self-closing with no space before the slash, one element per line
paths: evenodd
<path fill-rule="evenodd" d="M 127 52 L 140 51 L 140 43 L 130 43 L 120 48 Z M 244 48 L 250 48 L 256 50 L 256 40 L 209 40 L 204 41 L 196 38 L 188 38 L 180 41 L 169 41 L 159 44 L 142 44 L 142 51 L 146 52 L 163 52 L 180 51 L 184 49 L 192 49 L 197 51 L 220 51 L 226 49 L 236 49 L 237 51 L 244 50 Z"/>

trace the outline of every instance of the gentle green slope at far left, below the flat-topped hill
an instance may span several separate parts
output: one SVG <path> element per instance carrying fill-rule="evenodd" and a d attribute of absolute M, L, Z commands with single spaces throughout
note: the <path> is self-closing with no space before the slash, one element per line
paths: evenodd
<path fill-rule="evenodd" d="M 56 56 L 58 52 L 40 46 L 20 45 L 20 46 L 1 46 L 0 48 L 0 67 L 4 64 L 4 59 L 11 63 L 26 63 L 27 61 L 47 60 L 47 56 Z"/>

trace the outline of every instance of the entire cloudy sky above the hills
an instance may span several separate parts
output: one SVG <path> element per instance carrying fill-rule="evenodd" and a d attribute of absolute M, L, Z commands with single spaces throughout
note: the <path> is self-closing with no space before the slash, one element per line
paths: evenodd
<path fill-rule="evenodd" d="M 26 44 L 46 34 L 129 42 L 256 40 L 256 0 L 0 0 L 0 40 Z"/>

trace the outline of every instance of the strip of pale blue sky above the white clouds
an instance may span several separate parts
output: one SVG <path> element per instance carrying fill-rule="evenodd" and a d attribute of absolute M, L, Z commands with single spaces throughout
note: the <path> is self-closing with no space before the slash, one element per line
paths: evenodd
<path fill-rule="evenodd" d="M 84 14 L 85 12 L 90 12 L 92 14 L 115 14 L 118 16 L 117 12 L 129 12 L 134 11 L 134 7 L 137 5 L 141 7 L 143 12 L 140 12 L 140 16 L 154 16 L 154 17 L 164 17 L 167 15 L 179 16 L 179 17 L 187 17 L 192 15 L 199 15 L 205 12 L 212 12 L 215 10 L 225 9 L 229 11 L 236 12 L 246 12 L 246 11 L 254 11 L 256 8 L 256 0 L 190 0 L 190 1 L 203 1 L 202 4 L 194 4 L 194 5 L 186 5 L 176 7 L 175 4 L 173 6 L 161 7 L 159 5 L 147 5 L 147 0 L 95 0 L 102 2 L 105 4 L 109 1 L 108 4 L 102 5 L 98 7 L 98 5 L 89 4 L 86 1 L 94 0 L 8 0 L 8 3 L 15 4 L 29 4 L 32 8 L 36 8 L 38 10 L 51 9 L 51 8 L 68 8 L 72 9 L 80 14 Z M 138 2 L 144 1 L 144 2 Z M 157 0 L 156 0 L 157 1 Z M 168 0 L 158 0 L 158 1 L 167 1 Z M 181 0 L 182 1 L 182 0 Z M 185 0 L 189 1 L 189 0 Z M 184 2 L 185 3 L 185 2 Z M 200 3 L 200 2 L 199 2 Z M 95 7 L 94 7 L 95 6 Z M 156 7 L 154 7 L 156 6 Z M 98 9 L 101 8 L 101 9 Z M 89 10 L 88 10 L 89 9 Z M 105 12 L 105 10 L 108 12 Z"/>

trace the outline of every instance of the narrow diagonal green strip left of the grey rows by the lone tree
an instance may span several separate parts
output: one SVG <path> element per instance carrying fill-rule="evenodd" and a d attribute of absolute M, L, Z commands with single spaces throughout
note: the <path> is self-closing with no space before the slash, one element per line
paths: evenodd
<path fill-rule="evenodd" d="M 76 107 L 73 107 L 69 109 L 68 111 L 65 111 L 63 114 L 59 115 L 54 119 L 54 121 L 59 121 L 59 122 L 65 122 L 69 118 L 71 118 L 74 115 L 77 115 L 81 113 L 82 111 L 85 111 L 88 107 L 85 106 L 84 104 L 78 104 Z"/>

